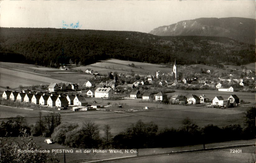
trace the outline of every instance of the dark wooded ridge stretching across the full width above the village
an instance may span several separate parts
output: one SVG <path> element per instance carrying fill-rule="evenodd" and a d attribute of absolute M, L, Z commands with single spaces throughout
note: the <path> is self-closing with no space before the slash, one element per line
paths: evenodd
<path fill-rule="evenodd" d="M 155 36 L 129 31 L 0 28 L 0 61 L 51 66 L 83 65 L 109 58 L 179 64 L 232 64 L 255 61 L 255 45 L 226 37 Z"/>

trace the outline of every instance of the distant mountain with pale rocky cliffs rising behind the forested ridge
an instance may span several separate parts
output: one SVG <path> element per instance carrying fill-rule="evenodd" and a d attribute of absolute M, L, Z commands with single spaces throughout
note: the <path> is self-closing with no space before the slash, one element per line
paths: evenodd
<path fill-rule="evenodd" d="M 150 33 L 158 36 L 219 36 L 255 44 L 255 19 L 198 18 L 161 26 Z"/>

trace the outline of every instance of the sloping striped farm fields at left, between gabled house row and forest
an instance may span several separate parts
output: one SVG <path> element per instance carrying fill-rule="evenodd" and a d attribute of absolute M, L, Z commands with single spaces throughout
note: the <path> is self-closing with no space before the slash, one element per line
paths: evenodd
<path fill-rule="evenodd" d="M 0 91 L 17 89 L 20 85 L 32 86 L 40 84 L 49 84 L 51 82 L 72 82 L 84 83 L 93 75 L 64 71 L 57 68 L 48 68 L 32 64 L 19 64 L 0 62 Z"/>

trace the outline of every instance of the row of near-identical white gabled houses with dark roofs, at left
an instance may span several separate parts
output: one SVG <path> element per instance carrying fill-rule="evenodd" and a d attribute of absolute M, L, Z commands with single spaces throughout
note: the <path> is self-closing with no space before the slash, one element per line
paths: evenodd
<path fill-rule="evenodd" d="M 43 93 L 37 92 L 36 94 L 6 90 L 3 92 L 3 99 L 10 99 L 12 101 L 27 102 L 32 104 L 67 107 L 68 105 L 85 106 L 88 103 L 85 98 L 80 95 L 67 95 L 58 93 Z M 30 91 L 32 92 L 32 91 Z M 35 91 L 33 91 L 34 93 Z"/>

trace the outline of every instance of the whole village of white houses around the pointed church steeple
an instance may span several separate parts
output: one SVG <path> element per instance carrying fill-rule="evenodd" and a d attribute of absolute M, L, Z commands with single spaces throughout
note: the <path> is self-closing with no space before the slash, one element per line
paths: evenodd
<path fill-rule="evenodd" d="M 94 74 L 92 69 L 87 69 L 86 73 Z M 134 99 L 147 101 L 151 103 L 160 104 L 182 104 L 182 105 L 192 105 L 192 104 L 203 104 L 208 107 L 216 108 L 229 108 L 236 107 L 240 104 L 240 99 L 237 95 L 233 94 L 234 88 L 230 86 L 229 88 L 223 88 L 222 80 L 202 80 L 198 78 L 193 79 L 183 79 L 178 80 L 178 70 L 176 60 L 173 65 L 172 72 L 169 76 L 173 78 L 172 82 L 167 80 L 159 80 L 165 74 L 160 75 L 159 71 L 156 75 L 148 75 L 147 77 L 137 76 L 137 80 L 132 84 L 128 84 L 118 78 L 121 78 L 117 73 L 109 73 L 108 80 L 92 80 L 86 81 L 82 86 L 76 83 L 50 83 L 48 90 L 45 91 L 35 91 L 35 90 L 22 90 L 11 91 L 6 90 L 3 92 L 2 99 L 20 101 L 24 103 L 31 103 L 41 106 L 56 107 L 59 110 L 67 109 L 67 107 L 72 108 L 73 111 L 89 111 L 96 110 L 96 108 L 103 108 L 97 104 L 89 105 L 86 99 Z M 126 76 L 130 78 L 130 76 Z M 97 78 L 99 79 L 99 78 Z M 235 79 L 233 82 L 237 82 L 240 86 L 243 86 L 244 79 Z M 96 83 L 97 81 L 97 83 Z M 254 77 L 250 79 L 254 81 Z M 194 95 L 187 93 L 185 95 L 175 94 L 169 96 L 166 93 L 175 92 L 173 88 L 177 85 L 195 85 L 193 83 L 200 83 L 202 86 L 208 86 L 218 91 L 230 92 L 229 97 L 223 98 L 222 96 L 216 95 L 213 99 L 210 99 L 207 95 Z M 231 82 L 231 81 L 229 81 Z M 232 93 L 231 93 L 232 92 Z M 94 101 L 94 103 L 97 103 Z M 103 104 L 103 103 L 102 103 Z M 122 106 L 119 106 L 120 108 Z M 147 106 L 145 106 L 147 108 Z"/>

